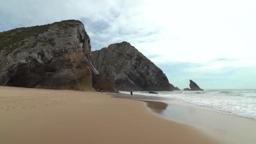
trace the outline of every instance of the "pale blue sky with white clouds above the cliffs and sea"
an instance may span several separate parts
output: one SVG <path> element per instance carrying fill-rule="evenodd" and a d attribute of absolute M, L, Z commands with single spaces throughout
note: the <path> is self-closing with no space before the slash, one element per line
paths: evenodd
<path fill-rule="evenodd" d="M 127 41 L 181 89 L 256 88 L 256 1 L 0 0 L 0 32 L 75 19 L 92 50 Z"/>

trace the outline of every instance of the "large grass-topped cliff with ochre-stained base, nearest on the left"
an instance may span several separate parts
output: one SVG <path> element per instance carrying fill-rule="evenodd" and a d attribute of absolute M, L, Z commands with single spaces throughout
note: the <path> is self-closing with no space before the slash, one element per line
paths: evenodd
<path fill-rule="evenodd" d="M 0 33 L 0 85 L 91 90 L 90 38 L 80 21 Z"/>

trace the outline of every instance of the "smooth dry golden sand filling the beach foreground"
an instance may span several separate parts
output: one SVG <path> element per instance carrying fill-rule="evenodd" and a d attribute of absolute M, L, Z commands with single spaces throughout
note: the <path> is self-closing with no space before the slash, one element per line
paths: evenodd
<path fill-rule="evenodd" d="M 218 143 L 146 103 L 97 92 L 0 87 L 0 143 Z"/>

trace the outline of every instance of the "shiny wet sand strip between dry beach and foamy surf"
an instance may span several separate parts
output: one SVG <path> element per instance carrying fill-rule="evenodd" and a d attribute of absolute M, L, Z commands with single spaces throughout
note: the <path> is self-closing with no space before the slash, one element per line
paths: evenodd
<path fill-rule="evenodd" d="M 164 98 L 160 97 L 131 96 L 127 94 L 112 95 L 118 98 L 145 101 L 153 112 L 172 121 L 189 124 L 223 143 L 256 143 L 256 121 L 254 119 L 238 117 L 229 113 L 220 113 L 217 110 L 205 109 L 205 107 L 195 105 L 166 104 L 160 102 L 165 101 Z"/>

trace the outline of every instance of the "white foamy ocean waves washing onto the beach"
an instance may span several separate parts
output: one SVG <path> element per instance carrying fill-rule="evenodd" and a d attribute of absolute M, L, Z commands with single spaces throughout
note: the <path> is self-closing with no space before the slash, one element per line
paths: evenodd
<path fill-rule="evenodd" d="M 133 94 L 158 97 L 167 104 L 194 105 L 256 120 L 256 89 L 206 89 L 205 91 L 146 91 Z M 130 92 L 121 92 L 130 94 Z"/>

